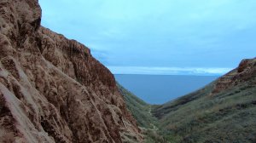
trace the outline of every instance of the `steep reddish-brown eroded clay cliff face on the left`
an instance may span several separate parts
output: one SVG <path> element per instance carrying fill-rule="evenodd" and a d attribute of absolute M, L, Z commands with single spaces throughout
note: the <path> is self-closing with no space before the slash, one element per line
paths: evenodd
<path fill-rule="evenodd" d="M 0 142 L 140 142 L 112 73 L 40 20 L 37 0 L 0 1 Z"/>

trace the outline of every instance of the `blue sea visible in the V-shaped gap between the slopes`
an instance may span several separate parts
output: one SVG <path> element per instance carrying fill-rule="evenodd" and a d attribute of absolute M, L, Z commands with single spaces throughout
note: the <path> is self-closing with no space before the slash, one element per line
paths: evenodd
<path fill-rule="evenodd" d="M 163 104 L 203 88 L 218 76 L 114 75 L 116 80 L 150 104 Z"/>

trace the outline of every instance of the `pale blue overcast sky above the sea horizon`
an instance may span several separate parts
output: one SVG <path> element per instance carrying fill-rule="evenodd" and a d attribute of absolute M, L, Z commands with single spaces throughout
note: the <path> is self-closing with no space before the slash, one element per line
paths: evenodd
<path fill-rule="evenodd" d="M 39 0 L 115 74 L 221 75 L 256 55 L 255 0 Z"/>

